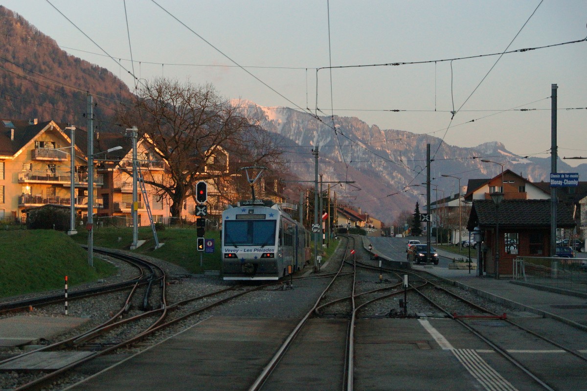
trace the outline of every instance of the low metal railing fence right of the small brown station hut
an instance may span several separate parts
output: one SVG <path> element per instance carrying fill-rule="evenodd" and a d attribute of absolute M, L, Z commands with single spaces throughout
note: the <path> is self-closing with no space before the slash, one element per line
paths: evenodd
<path fill-rule="evenodd" d="M 514 280 L 587 293 L 587 260 L 558 257 L 517 257 Z"/>

